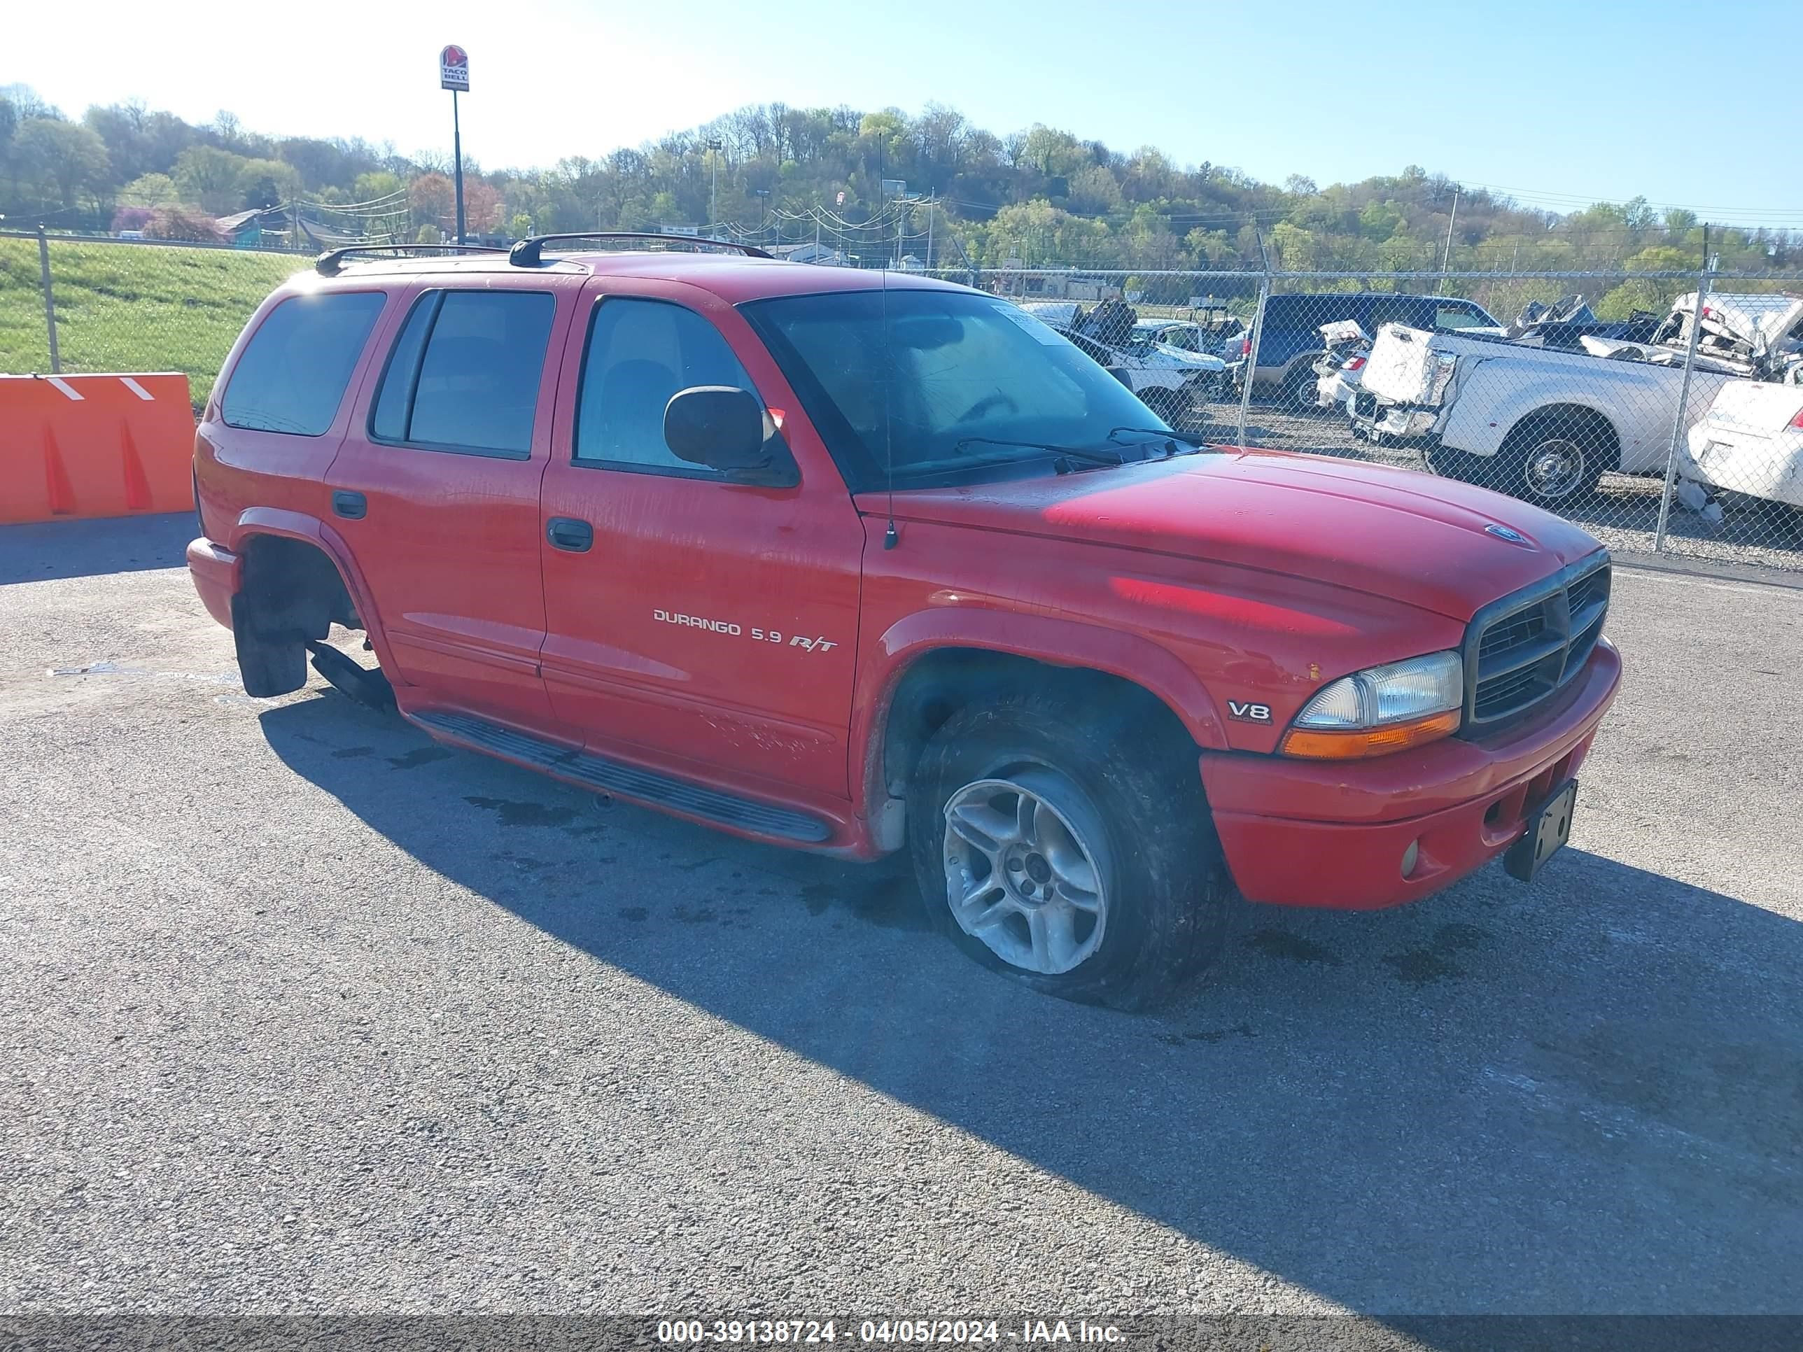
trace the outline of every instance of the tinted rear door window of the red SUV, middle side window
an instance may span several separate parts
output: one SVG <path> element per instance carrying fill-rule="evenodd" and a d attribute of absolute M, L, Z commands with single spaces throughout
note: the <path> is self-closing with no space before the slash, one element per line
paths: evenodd
<path fill-rule="evenodd" d="M 550 292 L 427 292 L 395 339 L 370 434 L 526 460 L 555 314 Z"/>

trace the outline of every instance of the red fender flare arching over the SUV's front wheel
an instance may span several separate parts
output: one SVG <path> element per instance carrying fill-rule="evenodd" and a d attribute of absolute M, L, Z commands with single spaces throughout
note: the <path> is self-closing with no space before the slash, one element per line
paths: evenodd
<path fill-rule="evenodd" d="M 1138 685 L 1168 708 L 1203 750 L 1228 746 L 1213 696 L 1188 665 L 1150 638 L 1080 620 L 1019 611 L 943 606 L 914 611 L 891 624 L 860 658 L 858 689 L 876 692 L 853 705 L 851 784 L 867 815 L 885 799 L 883 745 L 896 687 L 916 662 L 943 649 L 1002 653 L 1049 667 L 1102 671 Z"/>

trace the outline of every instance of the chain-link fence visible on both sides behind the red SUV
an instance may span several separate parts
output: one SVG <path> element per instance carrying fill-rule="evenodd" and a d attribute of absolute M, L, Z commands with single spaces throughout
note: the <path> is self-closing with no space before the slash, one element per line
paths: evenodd
<path fill-rule="evenodd" d="M 0 233 L 0 370 L 186 371 L 206 402 L 307 256 Z M 1803 278 L 936 270 L 1039 314 L 1172 425 L 1379 461 L 1619 552 L 1803 570 Z"/>

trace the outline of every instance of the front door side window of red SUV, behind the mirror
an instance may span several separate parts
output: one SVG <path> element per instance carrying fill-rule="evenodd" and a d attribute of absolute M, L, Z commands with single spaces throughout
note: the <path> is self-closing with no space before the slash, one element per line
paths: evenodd
<path fill-rule="evenodd" d="M 633 296 L 602 301 L 582 359 L 575 461 L 714 476 L 664 442 L 664 406 L 691 386 L 757 393 L 727 339 L 694 310 Z"/>

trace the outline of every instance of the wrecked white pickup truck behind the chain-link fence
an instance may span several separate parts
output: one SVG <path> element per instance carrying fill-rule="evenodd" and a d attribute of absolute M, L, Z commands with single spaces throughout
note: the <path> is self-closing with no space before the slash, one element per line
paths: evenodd
<path fill-rule="evenodd" d="M 1715 306 L 1733 299 L 1711 296 L 1706 321 L 1715 324 Z M 1352 427 L 1374 442 L 1426 447 L 1439 474 L 1554 508 L 1592 494 L 1605 470 L 1662 474 L 1695 306 L 1695 296 L 1680 296 L 1659 344 L 1612 344 L 1610 357 L 1385 324 Z M 1686 433 L 1725 384 L 1754 373 L 1758 362 L 1720 346 L 1698 353 Z"/>

